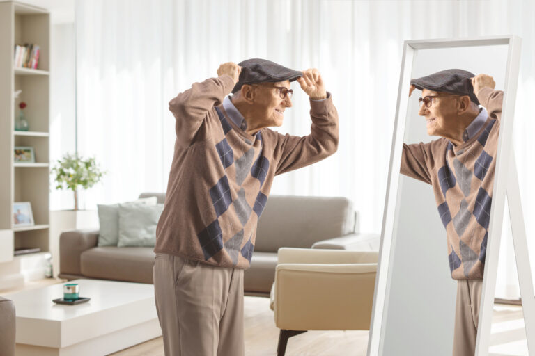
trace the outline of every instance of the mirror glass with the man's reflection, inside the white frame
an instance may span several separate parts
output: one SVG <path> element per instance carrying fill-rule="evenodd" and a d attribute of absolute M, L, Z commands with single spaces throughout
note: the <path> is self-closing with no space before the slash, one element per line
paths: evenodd
<path fill-rule="evenodd" d="M 382 355 L 474 355 L 507 51 L 414 54 Z"/>

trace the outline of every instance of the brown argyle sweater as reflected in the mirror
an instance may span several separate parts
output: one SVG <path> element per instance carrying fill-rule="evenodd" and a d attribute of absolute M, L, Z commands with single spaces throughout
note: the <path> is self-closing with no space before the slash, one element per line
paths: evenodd
<path fill-rule="evenodd" d="M 503 92 L 476 96 L 488 111 L 479 132 L 458 146 L 447 138 L 404 144 L 401 159 L 403 175 L 433 186 L 454 280 L 482 279 L 485 265 Z"/>

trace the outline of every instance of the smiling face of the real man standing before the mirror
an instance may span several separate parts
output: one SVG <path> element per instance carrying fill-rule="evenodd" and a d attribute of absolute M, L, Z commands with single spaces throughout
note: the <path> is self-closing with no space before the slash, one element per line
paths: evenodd
<path fill-rule="evenodd" d="M 284 111 L 292 106 L 289 94 L 284 99 L 281 99 L 280 87 L 290 89 L 290 81 L 256 85 L 253 108 L 254 118 L 261 122 L 263 127 L 281 126 L 284 120 Z"/>

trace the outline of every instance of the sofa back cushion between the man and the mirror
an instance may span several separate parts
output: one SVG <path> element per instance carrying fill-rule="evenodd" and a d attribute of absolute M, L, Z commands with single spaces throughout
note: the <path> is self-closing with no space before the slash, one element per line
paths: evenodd
<path fill-rule="evenodd" d="M 254 251 L 310 248 L 316 241 L 355 232 L 355 219 L 352 203 L 345 197 L 271 195 L 258 220 Z"/>

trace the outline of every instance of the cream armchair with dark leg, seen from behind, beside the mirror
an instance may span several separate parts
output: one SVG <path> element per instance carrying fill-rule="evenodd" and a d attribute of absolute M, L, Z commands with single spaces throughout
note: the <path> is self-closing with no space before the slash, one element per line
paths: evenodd
<path fill-rule="evenodd" d="M 271 309 L 288 338 L 307 330 L 369 330 L 378 252 L 280 248 Z"/>

